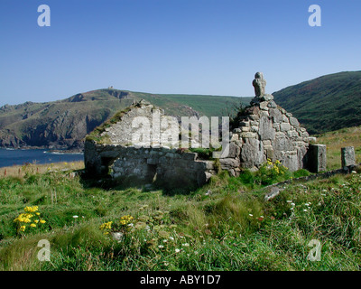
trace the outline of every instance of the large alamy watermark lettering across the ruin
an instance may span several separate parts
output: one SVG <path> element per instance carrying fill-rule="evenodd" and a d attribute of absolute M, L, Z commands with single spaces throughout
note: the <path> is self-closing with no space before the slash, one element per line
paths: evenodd
<path fill-rule="evenodd" d="M 214 158 L 227 157 L 229 153 L 229 117 L 176 117 L 161 116 L 153 109 L 152 120 L 134 117 L 132 120 L 132 144 L 135 147 L 214 148 Z M 201 127 L 201 129 L 200 129 Z M 218 151 L 217 151 L 218 150 Z"/>

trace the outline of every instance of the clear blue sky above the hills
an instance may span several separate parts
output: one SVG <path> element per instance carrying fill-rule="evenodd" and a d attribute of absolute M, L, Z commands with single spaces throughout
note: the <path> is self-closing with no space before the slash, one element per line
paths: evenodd
<path fill-rule="evenodd" d="M 0 106 L 108 86 L 252 97 L 256 71 L 272 93 L 361 70 L 360 30 L 356 0 L 1 0 Z"/>

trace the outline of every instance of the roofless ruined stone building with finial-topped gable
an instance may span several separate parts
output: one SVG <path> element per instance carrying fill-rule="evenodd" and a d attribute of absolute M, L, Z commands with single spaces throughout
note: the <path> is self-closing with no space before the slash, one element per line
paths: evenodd
<path fill-rule="evenodd" d="M 257 72 L 253 81 L 255 98 L 239 112 L 237 126 L 227 132 L 228 142 L 222 143 L 227 146 L 227 154 L 219 158 L 205 158 L 189 147 L 181 147 L 180 124 L 141 101 L 87 136 L 86 170 L 94 176 L 107 175 L 120 181 L 189 187 L 208 182 L 219 169 L 236 176 L 243 169 L 256 170 L 267 159 L 279 160 L 291 171 L 326 170 L 325 146 L 310 149 L 314 138 L 291 113 L 274 102 L 272 95 L 265 94 L 265 84 L 263 74 Z M 312 160 L 320 160 L 316 166 L 310 162 L 310 155 Z"/>

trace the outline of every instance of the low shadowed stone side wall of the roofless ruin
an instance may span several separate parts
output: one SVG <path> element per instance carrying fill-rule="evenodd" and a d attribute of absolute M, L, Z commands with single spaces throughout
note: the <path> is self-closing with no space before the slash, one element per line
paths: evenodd
<path fill-rule="evenodd" d="M 86 141 L 88 173 L 113 179 L 133 179 L 162 186 L 197 187 L 215 173 L 212 161 L 199 160 L 198 154 L 164 147 L 135 148 L 122 144 L 96 144 Z"/>

